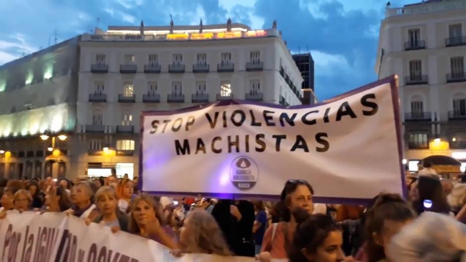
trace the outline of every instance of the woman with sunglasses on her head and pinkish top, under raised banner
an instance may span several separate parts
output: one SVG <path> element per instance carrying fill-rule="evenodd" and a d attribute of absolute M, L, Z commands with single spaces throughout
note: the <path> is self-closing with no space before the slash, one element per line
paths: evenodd
<path fill-rule="evenodd" d="M 264 234 L 261 254 L 257 258 L 261 261 L 272 259 L 287 259 L 286 248 L 291 245 L 296 230 L 296 220 L 291 210 L 300 208 L 312 214 L 314 206 L 312 195 L 314 190 L 305 180 L 288 180 L 280 196 L 279 206 L 283 206 L 281 221 L 270 226 Z"/>

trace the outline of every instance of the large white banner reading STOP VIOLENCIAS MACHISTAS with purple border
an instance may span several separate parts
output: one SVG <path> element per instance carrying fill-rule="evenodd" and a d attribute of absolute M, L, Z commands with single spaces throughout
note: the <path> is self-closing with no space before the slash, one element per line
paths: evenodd
<path fill-rule="evenodd" d="M 219 101 L 141 115 L 140 188 L 160 195 L 276 198 L 289 179 L 314 201 L 404 193 L 396 76 L 317 105 Z"/>

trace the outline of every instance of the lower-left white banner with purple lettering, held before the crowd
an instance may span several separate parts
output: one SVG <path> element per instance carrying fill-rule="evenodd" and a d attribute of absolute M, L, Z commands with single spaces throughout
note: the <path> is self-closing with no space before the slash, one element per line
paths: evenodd
<path fill-rule="evenodd" d="M 186 254 L 175 258 L 155 241 L 60 212 L 8 211 L 0 220 L 1 262 L 254 262 Z M 279 262 L 273 261 L 273 262 Z"/>

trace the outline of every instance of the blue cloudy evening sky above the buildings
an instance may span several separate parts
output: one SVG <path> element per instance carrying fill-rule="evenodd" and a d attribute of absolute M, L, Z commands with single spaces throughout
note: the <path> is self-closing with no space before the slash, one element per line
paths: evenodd
<path fill-rule="evenodd" d="M 420 0 L 391 0 L 392 7 Z M 0 0 L 0 64 L 97 25 L 233 22 L 279 30 L 291 52 L 315 60 L 319 100 L 376 79 L 375 54 L 384 0 Z M 56 32 L 56 34 L 55 34 Z"/>

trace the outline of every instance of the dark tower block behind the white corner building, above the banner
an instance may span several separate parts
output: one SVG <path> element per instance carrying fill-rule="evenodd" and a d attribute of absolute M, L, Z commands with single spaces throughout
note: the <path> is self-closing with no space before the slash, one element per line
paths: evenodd
<path fill-rule="evenodd" d="M 313 105 L 317 103 L 314 90 L 314 59 L 312 59 L 310 52 L 295 53 L 292 57 L 303 79 L 301 84 L 303 90 L 302 104 Z"/>

